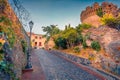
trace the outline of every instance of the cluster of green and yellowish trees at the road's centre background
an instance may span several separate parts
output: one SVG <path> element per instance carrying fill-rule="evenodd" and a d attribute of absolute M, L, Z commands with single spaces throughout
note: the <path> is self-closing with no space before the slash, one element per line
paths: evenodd
<path fill-rule="evenodd" d="M 75 45 L 78 45 L 80 43 L 82 43 L 83 47 L 86 48 L 86 40 L 83 39 L 81 32 L 91 27 L 92 26 L 89 24 L 79 24 L 76 28 L 73 28 L 69 24 L 65 26 L 64 30 L 58 29 L 55 25 L 50 25 L 42 28 L 43 31 L 46 32 L 48 38 L 52 37 L 54 39 L 56 48 L 66 49 L 74 47 Z"/>

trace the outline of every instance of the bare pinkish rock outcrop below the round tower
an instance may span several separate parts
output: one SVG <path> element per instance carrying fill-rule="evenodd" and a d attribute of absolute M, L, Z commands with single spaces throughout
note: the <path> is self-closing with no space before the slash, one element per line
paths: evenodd
<path fill-rule="evenodd" d="M 98 41 L 106 52 L 106 56 L 99 57 L 101 67 L 120 75 L 120 31 L 109 26 L 101 26 L 89 29 L 88 33 L 90 33 L 89 42 Z"/>

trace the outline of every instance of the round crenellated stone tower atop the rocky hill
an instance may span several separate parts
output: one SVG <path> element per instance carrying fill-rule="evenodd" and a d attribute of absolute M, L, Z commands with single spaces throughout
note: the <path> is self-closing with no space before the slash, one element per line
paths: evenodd
<path fill-rule="evenodd" d="M 102 9 L 103 14 L 113 14 L 115 17 L 120 13 L 120 8 L 112 3 L 103 2 L 99 5 L 96 2 L 92 6 L 86 7 L 86 9 L 81 12 L 81 22 L 91 24 L 94 27 L 100 26 L 100 17 L 96 14 L 98 9 Z"/>

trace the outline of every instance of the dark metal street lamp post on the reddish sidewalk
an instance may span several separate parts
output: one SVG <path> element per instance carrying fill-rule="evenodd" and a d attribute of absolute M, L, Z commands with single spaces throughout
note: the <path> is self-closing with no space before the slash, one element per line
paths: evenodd
<path fill-rule="evenodd" d="M 27 52 L 27 65 L 25 66 L 25 69 L 30 69 L 32 70 L 32 64 L 31 64 L 31 32 L 33 28 L 33 21 L 29 22 L 29 27 L 30 27 L 30 37 L 29 37 L 29 47 L 28 47 L 28 52 Z"/>

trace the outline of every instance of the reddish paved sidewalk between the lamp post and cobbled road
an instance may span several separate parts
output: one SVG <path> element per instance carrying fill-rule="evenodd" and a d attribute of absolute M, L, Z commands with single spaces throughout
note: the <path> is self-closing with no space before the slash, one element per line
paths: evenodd
<path fill-rule="evenodd" d="M 31 56 L 33 71 L 24 72 L 21 80 L 45 80 L 44 72 L 40 65 L 38 56 L 34 51 Z"/>

